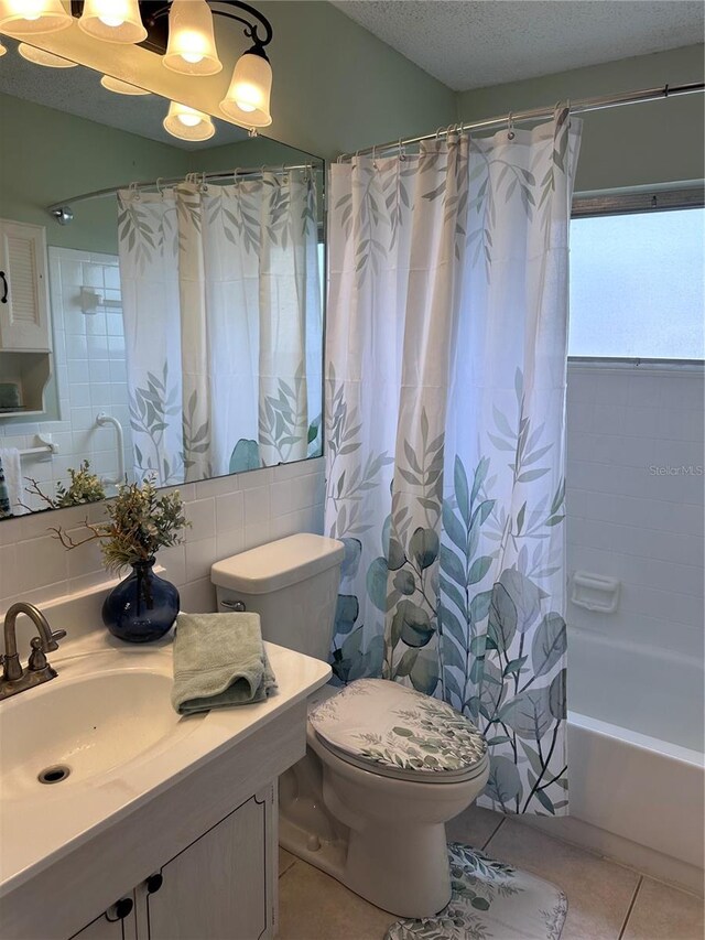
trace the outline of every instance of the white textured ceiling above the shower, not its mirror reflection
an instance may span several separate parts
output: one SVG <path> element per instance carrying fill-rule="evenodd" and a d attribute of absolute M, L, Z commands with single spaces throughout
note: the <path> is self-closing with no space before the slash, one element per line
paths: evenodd
<path fill-rule="evenodd" d="M 691 0 L 333 0 L 456 91 L 703 41 Z"/>

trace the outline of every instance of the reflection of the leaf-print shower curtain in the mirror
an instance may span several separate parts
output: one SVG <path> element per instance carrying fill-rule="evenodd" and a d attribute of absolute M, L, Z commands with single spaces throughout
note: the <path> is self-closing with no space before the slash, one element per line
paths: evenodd
<path fill-rule="evenodd" d="M 305 457 L 319 421 L 306 374 L 322 333 L 313 174 L 118 199 L 137 478 Z"/>

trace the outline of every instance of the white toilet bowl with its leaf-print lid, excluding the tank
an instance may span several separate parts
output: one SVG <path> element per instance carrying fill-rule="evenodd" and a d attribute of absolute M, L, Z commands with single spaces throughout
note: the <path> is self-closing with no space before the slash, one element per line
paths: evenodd
<path fill-rule="evenodd" d="M 371 691 L 362 712 L 355 699 L 350 701 L 359 687 Z M 337 712 L 351 717 L 351 736 L 349 727 L 341 735 L 339 727 L 336 733 L 317 720 L 321 705 L 314 704 L 306 757 L 280 788 L 280 842 L 284 849 L 399 917 L 431 917 L 451 899 L 445 823 L 479 796 L 489 770 L 481 735 L 436 700 L 429 700 L 433 711 L 452 714 L 453 724 L 466 732 L 459 753 L 449 761 L 453 767 L 394 766 L 398 752 L 389 752 L 384 755 L 389 763 L 380 763 L 379 755 L 370 756 L 370 748 L 354 744 L 361 741 L 365 745 L 370 736 L 388 739 L 390 725 L 395 726 L 390 717 L 400 711 L 390 707 L 390 700 L 413 710 L 425 698 L 384 680 L 351 683 L 323 706 L 335 709 L 336 700 L 341 700 Z M 438 728 L 430 731 L 432 739 L 438 739 L 437 733 Z M 343 744 L 349 747 L 347 752 Z M 402 763 L 410 761 L 402 756 Z"/>

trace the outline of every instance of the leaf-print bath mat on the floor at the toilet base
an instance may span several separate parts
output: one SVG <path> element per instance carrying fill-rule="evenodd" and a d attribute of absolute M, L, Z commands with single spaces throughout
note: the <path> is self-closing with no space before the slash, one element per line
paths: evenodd
<path fill-rule="evenodd" d="M 550 882 L 448 844 L 451 900 L 436 917 L 398 920 L 384 940 L 558 940 L 568 903 Z"/>

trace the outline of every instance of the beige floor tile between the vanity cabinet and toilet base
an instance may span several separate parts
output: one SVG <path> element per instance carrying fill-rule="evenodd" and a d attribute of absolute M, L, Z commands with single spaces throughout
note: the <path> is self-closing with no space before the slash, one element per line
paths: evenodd
<path fill-rule="evenodd" d="M 279 880 L 278 940 L 382 940 L 397 918 L 296 860 Z"/>

